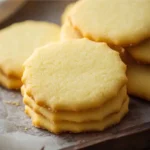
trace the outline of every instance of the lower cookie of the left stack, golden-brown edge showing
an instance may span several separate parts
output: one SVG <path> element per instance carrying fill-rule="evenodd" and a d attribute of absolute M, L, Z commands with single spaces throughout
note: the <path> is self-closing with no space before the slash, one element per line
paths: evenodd
<path fill-rule="evenodd" d="M 0 71 L 0 84 L 8 89 L 19 89 L 22 82 L 20 79 L 7 77 Z"/>

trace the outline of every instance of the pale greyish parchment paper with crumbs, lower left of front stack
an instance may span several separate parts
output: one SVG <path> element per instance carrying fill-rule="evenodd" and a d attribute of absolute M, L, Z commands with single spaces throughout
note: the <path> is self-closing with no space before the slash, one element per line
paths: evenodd
<path fill-rule="evenodd" d="M 33 127 L 24 113 L 21 94 L 1 87 L 0 134 L 0 150 L 60 149 L 75 144 L 67 141 L 69 134 L 57 136 Z"/>

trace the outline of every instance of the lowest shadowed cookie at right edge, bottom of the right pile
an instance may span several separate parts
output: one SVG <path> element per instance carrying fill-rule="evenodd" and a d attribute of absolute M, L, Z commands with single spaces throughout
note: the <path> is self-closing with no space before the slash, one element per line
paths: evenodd
<path fill-rule="evenodd" d="M 127 53 L 126 63 L 128 93 L 145 100 L 150 100 L 150 66 L 137 64 Z"/>

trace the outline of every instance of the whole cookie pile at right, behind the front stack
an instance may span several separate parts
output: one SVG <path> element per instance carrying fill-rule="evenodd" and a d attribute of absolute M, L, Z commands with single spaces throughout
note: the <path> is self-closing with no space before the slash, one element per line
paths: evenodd
<path fill-rule="evenodd" d="M 86 37 L 121 53 L 124 48 L 133 58 L 126 60 L 128 93 L 150 100 L 149 13 L 148 0 L 80 0 L 63 15 L 61 40 Z"/>

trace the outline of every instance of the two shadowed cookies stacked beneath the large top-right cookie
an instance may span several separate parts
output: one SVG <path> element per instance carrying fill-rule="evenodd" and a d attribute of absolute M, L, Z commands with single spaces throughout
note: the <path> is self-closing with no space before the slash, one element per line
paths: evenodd
<path fill-rule="evenodd" d="M 128 93 L 150 100 L 150 40 L 126 48 Z"/>

